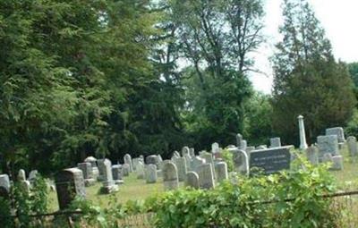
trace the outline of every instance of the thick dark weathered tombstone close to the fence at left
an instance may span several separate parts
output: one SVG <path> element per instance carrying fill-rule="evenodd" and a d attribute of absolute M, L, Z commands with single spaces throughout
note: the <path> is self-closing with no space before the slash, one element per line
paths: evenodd
<path fill-rule="evenodd" d="M 74 198 L 86 197 L 83 173 L 78 168 L 64 169 L 55 176 L 55 188 L 60 210 L 68 208 Z"/>

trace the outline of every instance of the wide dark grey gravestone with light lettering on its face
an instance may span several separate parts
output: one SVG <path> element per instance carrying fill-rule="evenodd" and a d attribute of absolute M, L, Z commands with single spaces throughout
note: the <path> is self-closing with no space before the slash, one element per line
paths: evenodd
<path fill-rule="evenodd" d="M 250 154 L 250 169 L 259 168 L 264 174 L 290 169 L 291 146 L 253 150 Z"/>

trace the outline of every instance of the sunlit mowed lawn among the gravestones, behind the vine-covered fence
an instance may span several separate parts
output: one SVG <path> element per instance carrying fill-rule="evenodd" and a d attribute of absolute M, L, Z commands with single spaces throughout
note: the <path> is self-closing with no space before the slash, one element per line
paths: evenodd
<path fill-rule="evenodd" d="M 336 179 L 339 190 L 358 190 L 358 161 L 352 162 L 348 156 L 346 148 L 341 153 L 345 157 L 343 171 L 332 171 Z M 183 183 L 181 183 L 183 186 Z M 157 183 L 147 184 L 143 179 L 137 179 L 135 173 L 124 177 L 124 184 L 119 186 L 119 190 L 112 194 L 99 194 L 101 183 L 87 187 L 87 198 L 100 207 L 108 207 L 112 203 L 125 203 L 128 200 L 145 199 L 149 196 L 155 196 L 164 191 L 163 181 L 158 178 Z M 58 203 L 55 191 L 49 195 L 49 207 L 51 211 L 58 210 Z"/>

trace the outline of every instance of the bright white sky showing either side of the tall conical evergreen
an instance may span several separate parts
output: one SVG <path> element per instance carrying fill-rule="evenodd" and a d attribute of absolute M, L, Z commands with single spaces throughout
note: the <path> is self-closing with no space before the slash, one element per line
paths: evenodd
<path fill-rule="evenodd" d="M 347 63 L 358 62 L 358 0 L 308 0 L 326 36 L 333 47 L 336 59 Z M 266 0 L 264 35 L 267 42 L 254 55 L 257 69 L 265 74 L 250 76 L 253 87 L 270 93 L 272 88 L 272 67 L 268 58 L 274 54 L 274 45 L 280 40 L 278 27 L 282 24 L 282 0 Z"/>

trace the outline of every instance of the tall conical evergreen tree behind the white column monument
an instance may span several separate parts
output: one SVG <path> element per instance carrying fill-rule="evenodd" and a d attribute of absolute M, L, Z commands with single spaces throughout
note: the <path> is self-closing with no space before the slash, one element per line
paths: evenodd
<path fill-rule="evenodd" d="M 337 63 L 320 22 L 306 1 L 285 0 L 283 40 L 273 56 L 273 123 L 297 144 L 297 116 L 305 117 L 311 142 L 325 128 L 344 125 L 353 112 L 352 80 Z"/>

